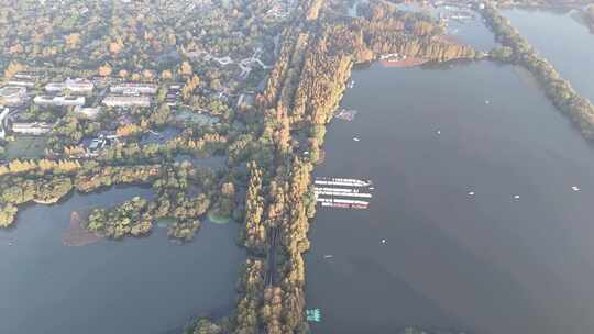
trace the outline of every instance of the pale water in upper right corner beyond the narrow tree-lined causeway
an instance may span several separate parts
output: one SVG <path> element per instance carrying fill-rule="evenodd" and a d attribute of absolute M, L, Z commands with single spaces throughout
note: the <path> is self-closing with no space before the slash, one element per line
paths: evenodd
<path fill-rule="evenodd" d="M 510 9 L 502 13 L 579 93 L 594 101 L 594 34 L 576 20 L 576 11 Z"/>

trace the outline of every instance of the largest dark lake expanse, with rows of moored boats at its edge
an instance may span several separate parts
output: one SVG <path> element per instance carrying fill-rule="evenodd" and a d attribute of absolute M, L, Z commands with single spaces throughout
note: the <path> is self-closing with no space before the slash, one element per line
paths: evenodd
<path fill-rule="evenodd" d="M 315 174 L 376 190 L 311 225 L 314 333 L 592 332 L 594 151 L 530 76 L 481 62 L 353 79 L 359 113 L 330 125 Z"/>

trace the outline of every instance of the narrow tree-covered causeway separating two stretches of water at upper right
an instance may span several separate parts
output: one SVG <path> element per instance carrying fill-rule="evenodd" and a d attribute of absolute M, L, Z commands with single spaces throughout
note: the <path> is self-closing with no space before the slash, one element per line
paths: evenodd
<path fill-rule="evenodd" d="M 554 67 L 522 37 L 504 18 L 493 3 L 482 10 L 486 23 L 495 33 L 503 47 L 491 52 L 491 57 L 505 63 L 517 64 L 528 69 L 543 88 L 547 97 L 579 126 L 582 134 L 594 138 L 594 105 L 580 96 L 571 84 L 561 78 Z"/>

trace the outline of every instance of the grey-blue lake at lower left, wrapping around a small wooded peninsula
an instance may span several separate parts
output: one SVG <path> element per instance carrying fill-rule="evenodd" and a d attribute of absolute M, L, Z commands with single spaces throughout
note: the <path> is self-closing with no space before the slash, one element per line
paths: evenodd
<path fill-rule="evenodd" d="M 114 188 L 32 205 L 20 212 L 14 229 L 0 231 L 0 333 L 180 333 L 196 315 L 232 310 L 245 258 L 235 246 L 235 224 L 204 222 L 185 245 L 169 242 L 165 229 L 146 238 L 62 244 L 72 210 L 134 196 L 151 190 Z"/>

